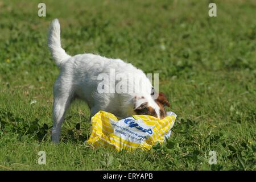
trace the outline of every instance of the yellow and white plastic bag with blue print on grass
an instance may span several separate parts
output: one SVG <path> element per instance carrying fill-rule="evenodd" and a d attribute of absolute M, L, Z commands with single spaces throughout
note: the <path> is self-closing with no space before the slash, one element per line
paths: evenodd
<path fill-rule="evenodd" d="M 87 140 L 94 147 L 110 146 L 116 150 L 150 150 L 157 142 L 162 144 L 170 137 L 176 114 L 158 119 L 150 115 L 133 115 L 118 120 L 114 114 L 98 111 L 92 117 L 92 133 Z"/>

